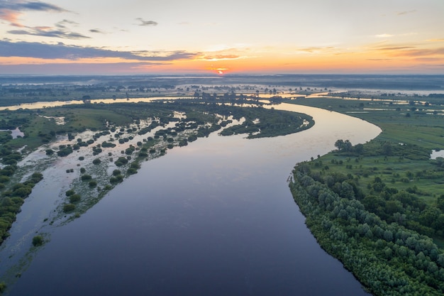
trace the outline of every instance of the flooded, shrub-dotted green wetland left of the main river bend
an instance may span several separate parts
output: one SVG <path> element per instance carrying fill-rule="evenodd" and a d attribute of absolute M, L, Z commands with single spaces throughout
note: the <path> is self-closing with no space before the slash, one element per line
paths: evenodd
<path fill-rule="evenodd" d="M 233 97 L 231 102 L 247 101 Z M 43 177 L 36 172 L 21 183 L 18 180 L 28 173 L 28 168 L 15 174 L 26 154 L 40 147 L 45 151 L 47 165 L 72 153 L 77 158 L 77 164 L 73 163 L 66 173 L 79 177 L 74 178 L 72 189 L 66 192 L 60 214 L 48 217 L 48 223 L 54 223 L 60 215 L 77 218 L 126 176 L 137 173 L 143 161 L 165 155 L 167 149 L 186 146 L 213 131 L 225 128 L 222 135 L 245 133 L 248 138 L 260 138 L 295 133 L 314 124 L 310 116 L 265 109 L 259 102 L 254 102 L 255 108 L 217 103 L 186 99 L 0 111 L 0 121 L 5 125 L 20 122 L 25 133 L 21 138 L 5 137 L 1 144 L 2 239 L 8 235 L 23 199 Z M 61 117 L 63 124 L 55 120 Z M 79 136 L 85 131 L 90 131 L 89 138 Z M 17 152 L 19 148 L 21 152 Z"/>

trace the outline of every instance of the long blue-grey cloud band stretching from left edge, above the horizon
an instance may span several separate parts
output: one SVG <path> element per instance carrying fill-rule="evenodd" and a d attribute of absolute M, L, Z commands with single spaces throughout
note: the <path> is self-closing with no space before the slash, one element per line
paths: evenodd
<path fill-rule="evenodd" d="M 116 51 L 101 48 L 81 47 L 75 45 L 45 44 L 0 40 L 0 56 L 2 57 L 34 57 L 45 60 L 79 60 L 84 58 L 117 57 L 123 60 L 162 62 L 187 60 L 199 56 L 200 53 L 187 53 L 182 50 L 165 51 Z"/>

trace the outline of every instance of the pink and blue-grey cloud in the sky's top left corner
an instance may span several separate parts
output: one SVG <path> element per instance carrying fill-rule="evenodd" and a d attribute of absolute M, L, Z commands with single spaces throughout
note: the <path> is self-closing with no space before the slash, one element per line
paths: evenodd
<path fill-rule="evenodd" d="M 0 1 L 0 19 L 11 23 L 12 26 L 23 26 L 17 21 L 22 11 L 67 12 L 59 6 L 40 1 Z"/>

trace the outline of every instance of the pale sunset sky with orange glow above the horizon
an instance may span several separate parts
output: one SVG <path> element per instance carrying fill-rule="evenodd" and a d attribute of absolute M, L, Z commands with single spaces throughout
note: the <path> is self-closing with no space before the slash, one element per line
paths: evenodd
<path fill-rule="evenodd" d="M 444 0 L 0 0 L 0 75 L 444 74 Z"/>

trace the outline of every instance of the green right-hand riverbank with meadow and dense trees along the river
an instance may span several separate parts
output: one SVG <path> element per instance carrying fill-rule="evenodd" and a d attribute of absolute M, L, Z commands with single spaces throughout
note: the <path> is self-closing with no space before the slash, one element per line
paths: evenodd
<path fill-rule="evenodd" d="M 295 167 L 290 188 L 320 245 L 374 295 L 442 295 L 444 170 L 442 158 L 430 159 L 444 147 L 439 112 L 370 101 L 372 110 L 357 113 L 366 107 L 358 99 L 296 103 L 382 127 L 370 143 L 343 138 L 338 150 Z"/>

